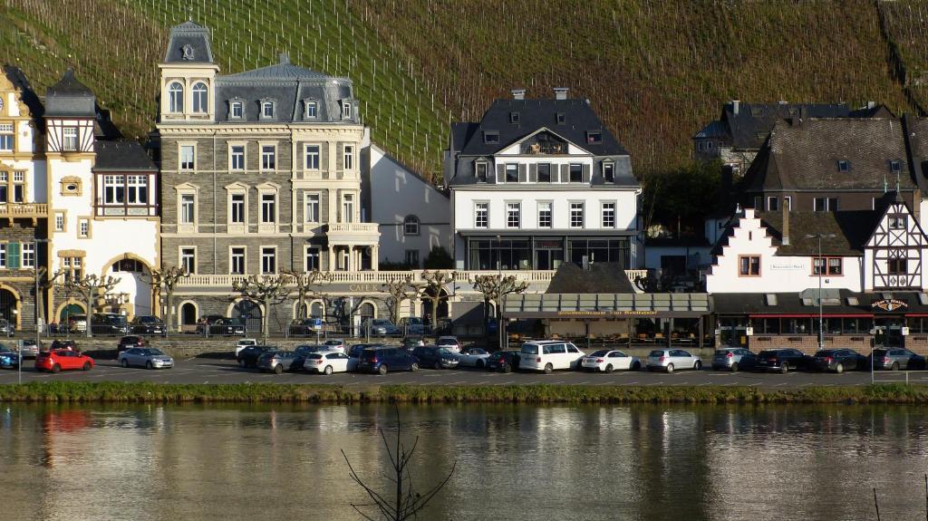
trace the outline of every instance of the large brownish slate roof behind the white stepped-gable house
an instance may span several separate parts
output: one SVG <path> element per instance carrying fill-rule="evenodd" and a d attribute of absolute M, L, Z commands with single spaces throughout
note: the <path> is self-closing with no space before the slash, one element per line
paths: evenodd
<path fill-rule="evenodd" d="M 846 160 L 848 172 L 838 161 Z M 744 176 L 746 191 L 774 189 L 882 190 L 918 188 L 909 169 L 905 132 L 897 119 L 835 118 L 777 121 Z"/>

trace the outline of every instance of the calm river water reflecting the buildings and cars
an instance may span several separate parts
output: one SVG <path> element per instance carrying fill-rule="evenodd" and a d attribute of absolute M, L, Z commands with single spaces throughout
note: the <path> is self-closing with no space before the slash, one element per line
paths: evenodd
<path fill-rule="evenodd" d="M 928 412 L 400 407 L 419 519 L 925 519 Z M 359 519 L 393 408 L 0 405 L 0 519 Z"/>

